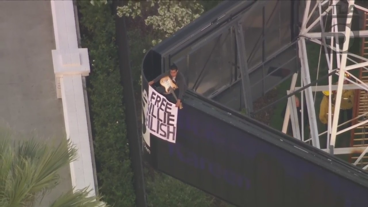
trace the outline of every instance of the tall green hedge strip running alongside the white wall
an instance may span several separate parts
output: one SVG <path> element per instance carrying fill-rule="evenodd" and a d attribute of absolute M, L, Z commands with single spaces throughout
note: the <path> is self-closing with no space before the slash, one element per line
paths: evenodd
<path fill-rule="evenodd" d="M 116 207 L 135 206 L 133 173 L 125 129 L 122 90 L 114 43 L 115 23 L 109 6 L 77 1 L 82 47 L 88 48 L 89 99 L 97 177 L 103 200 Z"/>

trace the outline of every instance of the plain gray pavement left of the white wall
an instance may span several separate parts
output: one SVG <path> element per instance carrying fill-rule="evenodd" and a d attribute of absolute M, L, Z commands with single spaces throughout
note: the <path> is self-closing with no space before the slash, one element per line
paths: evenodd
<path fill-rule="evenodd" d="M 0 120 L 41 140 L 65 138 L 63 106 L 56 98 L 50 1 L 0 1 Z M 71 189 L 69 166 L 61 183 L 37 207 Z"/>

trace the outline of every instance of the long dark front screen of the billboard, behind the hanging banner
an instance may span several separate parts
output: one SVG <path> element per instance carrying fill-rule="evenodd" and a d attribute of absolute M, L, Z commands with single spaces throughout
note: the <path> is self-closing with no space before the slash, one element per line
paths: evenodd
<path fill-rule="evenodd" d="M 142 75 L 142 100 L 147 92 Z M 368 203 L 367 180 L 354 181 L 355 169 L 336 163 L 336 158 L 325 159 L 330 155 L 323 152 L 318 159 L 304 143 L 281 140 L 266 126 L 240 121 L 189 94 L 183 102 L 175 143 L 150 134 L 143 124 L 145 159 L 157 170 L 239 207 Z"/>

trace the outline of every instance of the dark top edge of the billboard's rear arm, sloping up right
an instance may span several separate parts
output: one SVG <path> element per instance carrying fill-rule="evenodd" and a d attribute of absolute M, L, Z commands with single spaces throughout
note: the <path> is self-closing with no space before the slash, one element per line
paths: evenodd
<path fill-rule="evenodd" d="M 198 17 L 196 20 L 192 21 L 190 24 L 181 28 L 179 31 L 174 33 L 174 35 L 162 41 L 159 45 L 156 45 L 153 50 L 159 53 L 164 53 L 166 50 L 173 48 L 176 44 L 184 41 L 185 39 L 193 36 L 197 31 L 204 29 L 207 25 L 210 25 L 211 22 L 215 22 L 219 17 L 222 17 L 224 14 L 229 14 L 236 8 L 246 7 L 247 5 L 251 5 L 254 3 L 253 0 L 224 0 L 223 3 L 219 4 L 212 10 L 206 12 L 205 14 Z M 231 14 L 230 14 L 231 15 Z"/>

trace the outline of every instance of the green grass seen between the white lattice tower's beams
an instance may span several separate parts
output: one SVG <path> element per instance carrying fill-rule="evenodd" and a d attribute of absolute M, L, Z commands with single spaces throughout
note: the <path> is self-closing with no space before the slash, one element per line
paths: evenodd
<path fill-rule="evenodd" d="M 342 42 L 342 41 L 340 41 Z M 320 52 L 320 48 L 321 46 L 314 43 L 314 42 L 310 42 L 307 41 L 307 56 L 308 56 L 308 64 L 309 64 L 309 74 L 311 76 L 311 81 L 316 80 L 317 75 L 318 77 L 322 77 L 325 76 L 326 74 L 328 74 L 328 65 L 326 62 L 326 56 L 323 53 L 324 49 L 322 48 L 322 53 L 321 53 L 321 60 L 319 63 L 319 71 L 318 71 L 318 62 L 319 62 L 319 52 Z M 359 50 L 360 50 L 360 41 L 359 39 L 355 39 L 355 41 L 351 41 L 351 47 L 349 49 L 349 52 L 354 53 L 354 54 L 359 54 Z M 348 60 L 347 62 L 348 65 L 353 64 L 353 62 L 351 62 L 350 60 Z M 336 55 L 334 56 L 334 63 L 333 63 L 333 68 L 336 68 Z M 317 73 L 318 71 L 318 73 Z M 354 76 L 358 76 L 358 69 L 355 69 L 353 71 L 350 71 Z M 337 78 L 338 76 L 333 75 L 332 76 L 332 82 L 335 83 L 337 82 Z M 290 84 L 291 84 L 291 77 L 284 81 L 282 84 L 280 84 L 279 86 L 277 86 L 277 91 L 278 91 L 278 98 L 282 98 L 286 95 L 286 90 L 290 89 Z M 321 80 L 318 82 L 318 85 L 328 85 L 328 78 L 325 78 L 324 80 Z M 298 76 L 298 81 L 296 86 L 300 86 L 300 75 Z M 316 94 L 314 94 L 315 96 L 315 110 L 316 110 L 316 117 L 318 119 L 318 115 L 319 115 L 319 105 L 321 103 L 323 94 L 322 92 L 317 92 Z M 298 95 L 298 97 L 300 98 L 300 94 Z M 279 104 L 277 104 L 275 106 L 274 109 L 274 113 L 273 116 L 271 118 L 271 122 L 270 122 L 270 126 L 272 126 L 275 129 L 278 130 L 282 130 L 282 125 L 283 125 L 283 119 L 281 117 L 281 113 L 282 110 L 284 109 L 285 105 L 287 103 L 287 100 L 283 100 L 282 102 L 280 102 Z M 318 132 L 321 133 L 324 131 L 324 127 L 323 124 L 319 121 L 319 119 L 317 120 L 317 125 L 318 125 Z M 307 140 L 309 138 L 309 130 L 308 129 L 304 129 L 304 139 Z M 346 138 L 346 139 L 350 139 L 350 131 L 347 131 L 345 133 L 340 134 L 337 137 L 336 140 L 336 147 L 340 147 L 342 144 L 343 139 L 342 138 Z M 347 156 L 342 156 L 342 158 L 347 157 Z"/>

